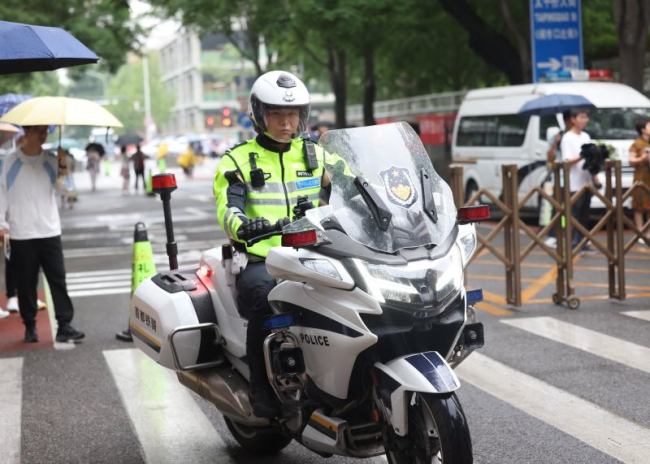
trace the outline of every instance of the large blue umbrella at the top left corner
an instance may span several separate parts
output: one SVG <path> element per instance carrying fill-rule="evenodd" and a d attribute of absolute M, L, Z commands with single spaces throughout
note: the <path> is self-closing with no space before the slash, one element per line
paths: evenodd
<path fill-rule="evenodd" d="M 99 57 L 58 27 L 0 21 L 0 74 L 96 63 Z"/>

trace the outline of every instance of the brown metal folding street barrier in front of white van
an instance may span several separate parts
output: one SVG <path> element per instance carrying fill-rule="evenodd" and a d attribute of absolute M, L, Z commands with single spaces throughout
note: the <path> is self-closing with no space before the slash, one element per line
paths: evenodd
<path fill-rule="evenodd" d="M 593 185 L 584 186 L 573 194 L 569 190 L 568 163 L 556 163 L 553 165 L 553 190 L 552 193 L 545 191 L 542 187 L 535 187 L 525 193 L 519 200 L 518 178 L 516 165 L 504 165 L 502 170 L 502 193 L 497 198 L 492 192 L 482 188 L 475 192 L 470 198 L 465 199 L 463 192 L 463 167 L 461 165 L 451 166 L 450 184 L 454 193 L 456 206 L 472 205 L 487 199 L 497 211 L 500 220 L 487 236 L 477 234 L 479 246 L 472 259 L 479 256 L 484 249 L 491 252 L 504 265 L 506 278 L 506 303 L 512 306 L 521 306 L 521 263 L 530 253 L 539 248 L 548 255 L 555 263 L 557 270 L 556 289 L 553 294 L 555 304 L 566 303 L 570 309 L 577 309 L 580 306 L 580 299 L 575 295 L 573 285 L 573 264 L 576 256 L 581 252 L 582 247 L 591 242 L 595 249 L 602 253 L 607 260 L 608 268 L 608 290 L 609 297 L 619 300 L 625 299 L 625 254 L 641 238 L 649 240 L 644 236 L 650 230 L 650 221 L 641 229 L 635 227 L 634 223 L 626 217 L 623 204 L 637 189 L 650 191 L 649 187 L 641 182 L 635 183 L 630 189 L 623 193 L 621 187 L 621 162 L 608 160 L 605 164 L 605 193 L 601 194 Z M 539 230 L 527 225 L 520 217 L 520 210 L 533 195 L 538 195 L 541 201 L 547 201 L 553 208 L 550 221 Z M 573 207 L 583 199 L 585 195 L 594 195 L 600 199 L 605 206 L 604 214 L 596 224 L 587 229 L 573 215 Z M 541 204 L 541 202 L 540 202 Z M 625 243 L 625 226 L 633 232 L 633 237 Z M 573 229 L 576 229 L 582 238 L 573 244 Z M 596 234 L 602 230 L 606 231 L 606 240 L 603 243 Z M 549 232 L 555 230 L 555 247 L 545 243 Z M 494 244 L 494 238 L 503 231 L 503 251 Z M 521 248 L 520 232 L 530 238 L 523 249 Z"/>

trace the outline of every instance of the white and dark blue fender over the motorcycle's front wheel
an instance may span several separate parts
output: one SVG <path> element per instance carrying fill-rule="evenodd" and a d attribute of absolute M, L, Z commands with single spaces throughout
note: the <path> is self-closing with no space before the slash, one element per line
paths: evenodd
<path fill-rule="evenodd" d="M 408 401 L 411 393 L 451 393 L 460 387 L 449 364 L 435 351 L 416 353 L 375 363 L 377 392 L 387 409 L 395 433 L 408 433 Z"/>

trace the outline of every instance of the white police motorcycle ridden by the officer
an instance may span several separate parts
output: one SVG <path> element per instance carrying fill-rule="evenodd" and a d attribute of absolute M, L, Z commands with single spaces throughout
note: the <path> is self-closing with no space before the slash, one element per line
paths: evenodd
<path fill-rule="evenodd" d="M 269 231 L 283 247 L 266 259 L 278 285 L 264 357 L 282 416 L 256 417 L 249 402 L 235 303 L 242 255 L 230 245 L 138 287 L 135 343 L 212 402 L 253 453 L 297 440 L 323 456 L 472 462 L 452 367 L 483 345 L 472 307 L 481 290 L 464 289 L 463 271 L 476 248 L 470 222 L 489 208 L 456 210 L 405 123 L 329 131 L 321 145 L 336 160 L 329 204 Z"/>

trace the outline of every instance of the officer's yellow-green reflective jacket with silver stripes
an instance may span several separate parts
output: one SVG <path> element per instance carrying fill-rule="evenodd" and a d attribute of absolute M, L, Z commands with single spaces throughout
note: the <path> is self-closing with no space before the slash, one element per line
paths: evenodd
<path fill-rule="evenodd" d="M 298 197 L 308 197 L 318 206 L 321 177 L 323 175 L 324 150 L 315 145 L 318 168 L 309 171 L 303 155 L 300 138 L 291 141 L 291 147 L 278 153 L 262 147 L 256 139 L 237 145 L 221 158 L 214 177 L 214 196 L 217 203 L 217 220 L 221 228 L 235 241 L 237 229 L 242 220 L 236 208 L 228 208 L 228 180 L 225 173 L 238 171 L 246 183 L 246 206 L 244 214 L 248 218 L 264 217 L 271 224 L 278 219 L 293 218 L 293 207 Z M 264 172 L 265 182 L 261 187 L 251 184 L 250 154 L 255 155 L 255 164 Z M 235 210 L 235 211 L 233 211 Z M 266 257 L 272 247 L 280 246 L 280 236 L 271 237 L 247 247 L 246 251 L 256 256 Z"/>

